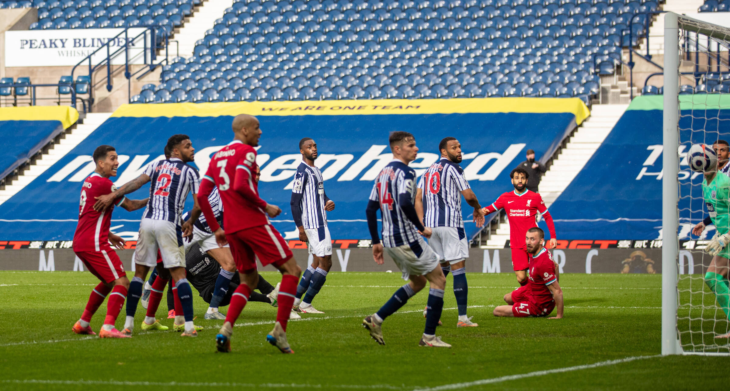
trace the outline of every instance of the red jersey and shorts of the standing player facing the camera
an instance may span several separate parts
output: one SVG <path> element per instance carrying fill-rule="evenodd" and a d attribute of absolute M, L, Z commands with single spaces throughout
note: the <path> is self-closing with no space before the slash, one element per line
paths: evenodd
<path fill-rule="evenodd" d="M 528 256 L 525 247 L 525 235 L 527 230 L 537 227 L 537 212 L 542 214 L 548 224 L 550 238 L 556 237 L 553 217 L 550 216 L 545 201 L 539 193 L 525 190 L 518 194 L 517 190 L 502 193 L 502 196 L 494 201 L 494 204 L 486 207 L 487 214 L 504 209 L 507 212 L 507 220 L 510 222 L 510 249 L 512 250 L 512 268 L 525 270 L 528 267 Z"/>

